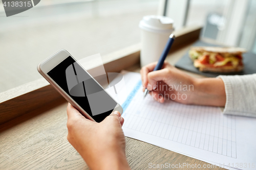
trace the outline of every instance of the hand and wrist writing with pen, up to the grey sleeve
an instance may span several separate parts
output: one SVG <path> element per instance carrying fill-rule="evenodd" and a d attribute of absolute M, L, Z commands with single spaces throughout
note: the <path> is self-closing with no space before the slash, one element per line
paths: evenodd
<path fill-rule="evenodd" d="M 225 106 L 226 94 L 222 79 L 196 79 L 164 62 L 162 69 L 153 71 L 157 62 L 141 68 L 143 91 L 150 90 L 153 98 L 163 103 L 174 100 L 183 104 Z"/>

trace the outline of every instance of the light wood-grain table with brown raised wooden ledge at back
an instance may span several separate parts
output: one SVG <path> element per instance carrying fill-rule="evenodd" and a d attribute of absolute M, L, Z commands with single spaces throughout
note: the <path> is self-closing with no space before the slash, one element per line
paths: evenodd
<path fill-rule="evenodd" d="M 194 34 L 199 37 L 200 30 L 195 32 Z M 182 36 L 177 37 L 182 38 Z M 195 38 L 191 39 L 189 44 L 170 53 L 167 61 L 176 63 L 195 40 Z M 122 58 L 122 61 L 127 61 L 126 65 L 129 65 L 126 70 L 136 72 L 140 70 L 137 48 L 139 47 L 133 46 L 134 51 L 126 55 L 126 58 Z M 127 49 L 124 51 L 127 53 Z M 109 68 L 120 61 L 115 59 L 104 62 L 106 71 L 113 72 L 113 70 L 108 71 Z M 115 69 L 120 71 L 119 67 L 114 67 L 114 71 Z M 190 72 L 187 74 L 202 77 Z M 0 94 L 0 169 L 88 169 L 81 156 L 67 140 L 66 107 L 67 102 L 43 79 Z M 208 165 L 206 162 L 146 142 L 129 137 L 125 137 L 125 140 L 126 157 L 132 169 L 148 169 L 149 163 Z M 219 169 L 219 167 L 207 169 Z"/>

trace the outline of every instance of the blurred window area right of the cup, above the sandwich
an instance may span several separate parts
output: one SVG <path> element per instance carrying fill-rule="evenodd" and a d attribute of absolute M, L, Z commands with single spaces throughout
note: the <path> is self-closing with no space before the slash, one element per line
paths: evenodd
<path fill-rule="evenodd" d="M 256 51 L 256 1 L 163 0 L 176 29 L 203 26 L 202 37 Z M 164 8 L 162 8 L 163 10 Z"/>

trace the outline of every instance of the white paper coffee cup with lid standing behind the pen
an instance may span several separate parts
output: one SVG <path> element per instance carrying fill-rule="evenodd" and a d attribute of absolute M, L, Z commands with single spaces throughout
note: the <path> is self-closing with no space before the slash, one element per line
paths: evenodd
<path fill-rule="evenodd" d="M 173 19 L 166 16 L 144 16 L 139 23 L 141 29 L 140 65 L 158 61 L 172 32 Z"/>

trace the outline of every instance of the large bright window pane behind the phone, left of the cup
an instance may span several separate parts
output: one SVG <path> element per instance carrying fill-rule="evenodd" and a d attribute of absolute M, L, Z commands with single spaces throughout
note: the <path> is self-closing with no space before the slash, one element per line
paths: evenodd
<path fill-rule="evenodd" d="M 139 21 L 157 0 L 44 0 L 6 17 L 0 4 L 0 92 L 41 78 L 39 62 L 64 48 L 76 59 L 140 42 Z"/>

